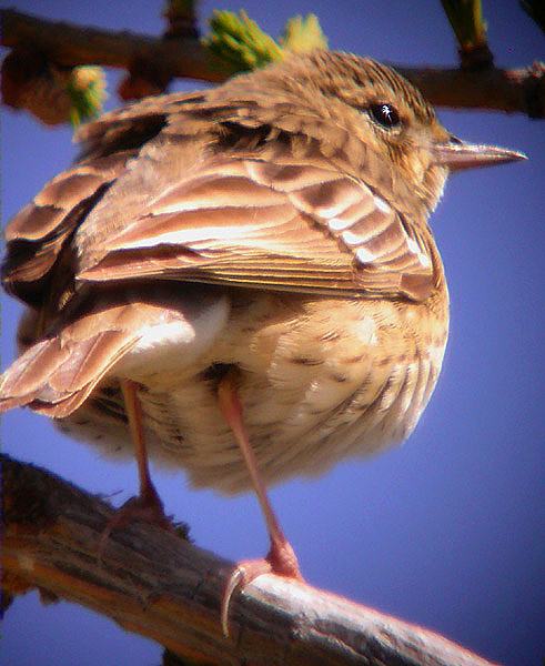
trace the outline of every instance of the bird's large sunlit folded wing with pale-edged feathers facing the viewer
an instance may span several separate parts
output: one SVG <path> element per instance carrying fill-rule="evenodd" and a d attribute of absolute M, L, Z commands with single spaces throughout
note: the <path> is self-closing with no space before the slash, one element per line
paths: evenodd
<path fill-rule="evenodd" d="M 134 170 L 134 180 L 119 183 L 119 198 L 112 191 L 102 201 L 122 224 L 104 234 L 94 232 L 99 218 L 85 222 L 79 280 L 145 276 L 416 301 L 430 295 L 428 238 L 326 160 L 287 149 L 268 158 L 218 153 L 176 171 L 168 147 L 162 150 L 157 169 L 172 164 L 166 178 L 150 167 L 148 176 Z M 124 209 L 124 216 L 129 191 L 149 188 L 151 196 Z"/>

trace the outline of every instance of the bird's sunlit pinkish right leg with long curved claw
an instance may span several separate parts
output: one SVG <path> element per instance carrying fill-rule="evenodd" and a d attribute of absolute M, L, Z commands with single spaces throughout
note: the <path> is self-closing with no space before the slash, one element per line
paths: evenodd
<path fill-rule="evenodd" d="M 238 588 L 243 588 L 258 576 L 269 573 L 286 578 L 295 578 L 297 581 L 302 581 L 303 578 L 299 571 L 295 553 L 282 532 L 269 501 L 265 485 L 260 476 L 258 462 L 244 427 L 242 404 L 236 392 L 236 376 L 233 372 L 229 372 L 221 380 L 218 386 L 218 398 L 223 417 L 233 431 L 234 437 L 244 457 L 253 488 L 258 495 L 261 509 L 265 517 L 269 537 L 271 539 L 271 548 L 264 559 L 241 562 L 231 575 L 222 601 L 222 627 L 223 633 L 228 636 L 229 605 L 233 593 Z"/>

